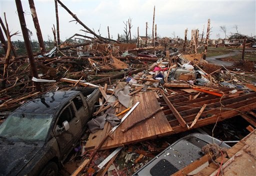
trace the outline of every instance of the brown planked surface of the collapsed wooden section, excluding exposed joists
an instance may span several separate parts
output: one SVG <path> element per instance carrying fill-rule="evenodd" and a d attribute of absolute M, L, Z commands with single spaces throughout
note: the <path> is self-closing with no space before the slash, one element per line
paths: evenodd
<path fill-rule="evenodd" d="M 140 102 L 138 106 L 131 112 L 131 114 L 122 122 L 122 124 L 107 138 L 103 143 L 101 150 L 111 149 L 126 144 L 141 142 L 148 139 L 154 139 L 158 135 L 162 135 L 172 131 L 165 115 L 162 111 L 156 113 L 150 119 L 141 122 L 129 129 L 127 132 L 121 132 L 133 123 L 145 118 L 152 114 L 155 110 L 160 108 L 160 105 L 154 95 L 154 92 L 144 92 L 133 96 L 133 104 Z M 123 109 L 119 109 L 121 112 Z M 125 115 L 125 114 L 124 114 Z M 124 116 L 123 115 L 123 116 Z M 98 146 L 110 131 L 111 126 L 106 123 L 103 130 L 90 134 L 86 142 L 85 149 L 90 150 Z M 112 138 L 112 139 L 111 139 Z"/>

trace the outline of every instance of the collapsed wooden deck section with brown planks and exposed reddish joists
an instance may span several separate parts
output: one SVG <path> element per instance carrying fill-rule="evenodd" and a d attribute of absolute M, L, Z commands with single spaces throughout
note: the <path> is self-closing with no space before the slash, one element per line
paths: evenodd
<path fill-rule="evenodd" d="M 112 139 L 108 138 L 103 143 L 101 150 L 188 131 L 190 128 L 213 124 L 216 121 L 222 121 L 236 115 L 241 115 L 242 118 L 256 127 L 255 115 L 253 113 L 248 115 L 251 110 L 256 109 L 256 92 L 244 93 L 239 91 L 229 94 L 232 89 L 222 87 L 218 90 L 223 93 L 223 96 L 219 97 L 206 92 L 198 93 L 198 91 L 183 91 L 181 89 L 166 90 L 165 93 L 160 91 L 161 95 L 156 95 L 156 92 L 153 91 L 134 94 L 133 104 L 137 101 L 140 104 L 110 136 Z M 174 92 L 175 94 L 173 94 Z M 160 107 L 163 109 L 155 114 L 154 118 L 141 122 L 125 133 L 121 132 Z M 116 109 L 116 114 L 124 109 L 119 106 Z M 106 123 L 103 130 L 90 134 L 85 148 L 93 149 L 98 146 L 110 129 L 110 125 Z"/>

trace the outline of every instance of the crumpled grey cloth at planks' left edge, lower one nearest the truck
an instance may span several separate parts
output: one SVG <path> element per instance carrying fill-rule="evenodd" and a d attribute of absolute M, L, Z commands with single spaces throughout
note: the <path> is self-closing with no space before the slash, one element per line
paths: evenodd
<path fill-rule="evenodd" d="M 106 121 L 111 124 L 111 127 L 119 125 L 121 122 L 121 120 L 114 114 L 103 114 L 102 116 L 91 119 L 87 123 L 89 131 L 91 133 L 95 133 L 96 131 L 103 129 Z"/>

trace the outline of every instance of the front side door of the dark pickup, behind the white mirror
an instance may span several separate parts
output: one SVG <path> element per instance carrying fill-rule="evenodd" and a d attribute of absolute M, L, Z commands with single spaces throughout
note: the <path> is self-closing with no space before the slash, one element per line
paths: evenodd
<path fill-rule="evenodd" d="M 67 131 L 62 125 L 64 121 L 69 124 Z M 62 154 L 68 153 L 72 145 L 80 138 L 82 132 L 81 121 L 75 113 L 73 102 L 68 103 L 59 113 L 54 129 L 60 152 Z"/>

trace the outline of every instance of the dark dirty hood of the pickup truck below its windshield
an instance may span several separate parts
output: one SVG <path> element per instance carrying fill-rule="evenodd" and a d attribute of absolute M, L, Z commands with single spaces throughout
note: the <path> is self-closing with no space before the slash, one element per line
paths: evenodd
<path fill-rule="evenodd" d="M 0 145 L 0 176 L 16 176 L 40 149 L 30 145 Z"/>

